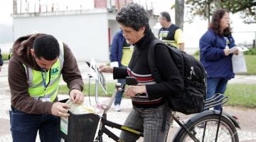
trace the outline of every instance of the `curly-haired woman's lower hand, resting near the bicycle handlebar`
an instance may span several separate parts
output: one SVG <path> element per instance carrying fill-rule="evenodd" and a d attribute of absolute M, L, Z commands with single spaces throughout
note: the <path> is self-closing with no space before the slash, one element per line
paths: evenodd
<path fill-rule="evenodd" d="M 142 93 L 146 93 L 146 86 L 129 86 L 127 88 L 125 88 L 124 90 L 124 94 L 127 97 L 135 97 L 136 94 L 142 94 Z"/>

